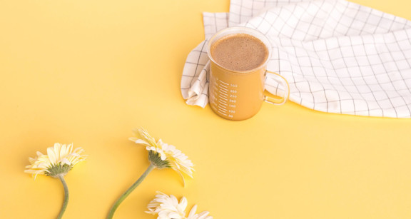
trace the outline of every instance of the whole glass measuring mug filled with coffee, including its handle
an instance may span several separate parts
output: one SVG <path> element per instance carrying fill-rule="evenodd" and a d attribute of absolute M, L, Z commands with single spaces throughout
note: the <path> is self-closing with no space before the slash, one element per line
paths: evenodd
<path fill-rule="evenodd" d="M 254 63 L 255 66 L 243 66 L 244 69 L 235 69 L 237 67 L 235 66 L 236 63 L 239 65 L 246 63 L 248 65 L 250 60 L 255 59 L 255 51 L 241 51 L 239 50 L 240 48 L 236 48 L 239 46 L 247 48 L 248 46 L 248 49 L 253 49 L 252 44 L 250 46 L 247 45 L 248 40 L 253 43 L 263 43 L 266 49 L 263 52 L 268 54 L 261 56 L 266 56 L 265 60 L 261 59 L 260 63 Z M 241 43 L 238 43 L 238 41 Z M 231 47 L 219 51 L 218 46 L 220 44 L 230 44 Z M 266 69 L 272 54 L 272 47 L 270 46 L 270 41 L 260 31 L 245 27 L 223 29 L 210 38 L 207 52 L 210 58 L 209 101 L 211 108 L 218 116 L 233 121 L 245 120 L 258 113 L 263 101 L 281 105 L 288 100 L 290 86 L 287 80 L 278 73 L 267 71 Z M 244 55 L 240 56 L 238 53 L 244 53 Z M 237 55 L 240 59 L 236 63 L 228 58 L 228 61 L 234 63 L 231 66 L 225 63 L 225 59 L 216 61 L 218 59 L 216 57 L 227 58 Z M 260 56 L 260 54 L 256 55 Z M 247 69 L 246 67 L 249 68 Z M 283 85 L 285 90 L 283 97 L 272 98 L 264 95 L 267 72 L 273 73 L 275 81 Z"/>

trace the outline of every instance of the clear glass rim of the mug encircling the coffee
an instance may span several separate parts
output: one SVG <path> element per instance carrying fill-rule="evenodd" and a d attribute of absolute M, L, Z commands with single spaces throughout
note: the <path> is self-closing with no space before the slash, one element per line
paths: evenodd
<path fill-rule="evenodd" d="M 235 70 L 228 69 L 228 68 L 225 68 L 225 67 L 221 66 L 211 56 L 210 49 L 211 49 L 211 46 L 213 45 L 213 43 L 217 40 L 216 38 L 218 38 L 218 36 L 221 36 L 222 34 L 224 34 L 226 32 L 232 32 L 232 33 L 225 34 L 223 36 L 228 36 L 228 35 L 231 35 L 231 34 L 248 34 L 248 35 L 254 36 L 255 38 L 259 39 L 260 41 L 263 42 L 264 46 L 268 49 L 267 59 L 260 66 L 258 66 L 256 68 L 253 68 L 253 69 L 250 69 L 250 70 L 246 70 L 246 71 L 235 71 Z M 250 32 L 252 34 L 249 34 Z M 255 36 L 254 34 L 257 35 L 257 36 Z M 223 37 L 223 36 L 221 36 L 221 37 Z M 220 39 L 220 38 L 218 38 L 218 39 Z M 222 29 L 222 30 L 218 31 L 217 33 L 215 33 L 213 36 L 211 36 L 210 39 L 208 39 L 208 44 L 207 44 L 207 55 L 208 55 L 208 58 L 210 58 L 210 61 L 212 61 L 219 68 L 223 68 L 225 71 L 230 71 L 231 73 L 251 73 L 251 72 L 259 70 L 260 68 L 264 68 L 264 66 L 266 66 L 268 61 L 270 60 L 272 50 L 273 49 L 271 47 L 270 41 L 268 40 L 268 38 L 263 33 L 261 33 L 260 31 L 258 31 L 256 29 L 251 29 L 251 28 L 245 27 L 245 26 L 233 26 L 233 27 L 228 27 L 228 28 Z"/>

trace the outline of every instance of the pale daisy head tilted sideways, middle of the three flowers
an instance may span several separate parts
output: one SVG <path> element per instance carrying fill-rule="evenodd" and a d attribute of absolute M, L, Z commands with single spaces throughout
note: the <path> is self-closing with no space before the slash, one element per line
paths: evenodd
<path fill-rule="evenodd" d="M 172 168 L 176 170 L 181 175 L 183 183 L 185 182 L 182 173 L 193 178 L 193 163 L 175 146 L 163 143 L 161 139 L 156 142 L 143 128 L 133 129 L 133 133 L 135 137 L 128 139 L 138 145 L 146 146 L 146 150 L 149 152 L 149 159 L 157 168 Z"/>

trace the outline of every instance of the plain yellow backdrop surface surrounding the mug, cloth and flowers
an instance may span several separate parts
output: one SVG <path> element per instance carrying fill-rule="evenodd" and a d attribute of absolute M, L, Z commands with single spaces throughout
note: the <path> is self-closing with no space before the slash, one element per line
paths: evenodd
<path fill-rule="evenodd" d="M 408 0 L 355 2 L 411 19 Z M 140 126 L 196 172 L 183 188 L 173 170 L 153 170 L 114 218 L 155 218 L 144 211 L 156 190 L 220 219 L 411 218 L 409 119 L 289 102 L 233 122 L 186 105 L 180 78 L 203 41 L 201 12 L 228 9 L 228 0 L 0 0 L 0 218 L 59 213 L 59 180 L 23 173 L 55 142 L 89 155 L 66 175 L 64 218 L 105 218 L 148 166 L 127 139 Z"/>

